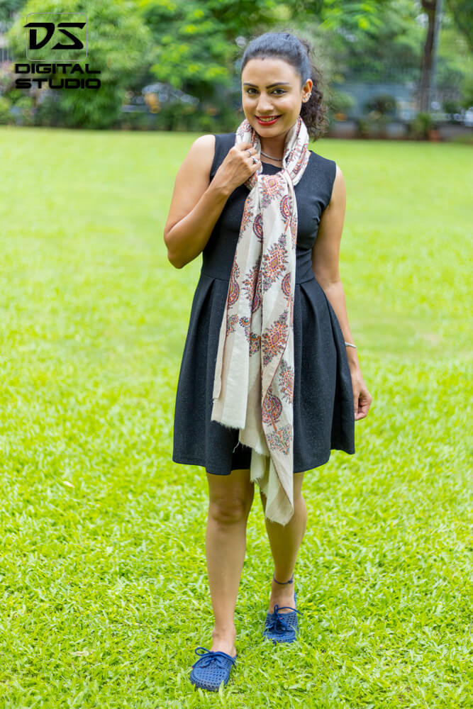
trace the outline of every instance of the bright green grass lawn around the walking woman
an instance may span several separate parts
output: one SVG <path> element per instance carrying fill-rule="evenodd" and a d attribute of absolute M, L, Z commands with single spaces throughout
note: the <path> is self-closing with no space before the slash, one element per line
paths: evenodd
<path fill-rule="evenodd" d="M 2 709 L 472 706 L 471 147 L 328 140 L 373 402 L 304 478 L 298 642 L 262 638 L 272 557 L 247 528 L 237 665 L 211 647 L 206 474 L 171 461 L 201 257 L 167 261 L 197 134 L 0 128 Z"/>

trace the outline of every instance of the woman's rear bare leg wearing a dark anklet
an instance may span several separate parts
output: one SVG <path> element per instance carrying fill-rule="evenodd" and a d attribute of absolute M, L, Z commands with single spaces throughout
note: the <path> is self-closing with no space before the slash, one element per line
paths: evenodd
<path fill-rule="evenodd" d="M 271 522 L 265 517 L 269 545 L 274 559 L 274 576 L 277 581 L 289 581 L 296 566 L 296 558 L 306 532 L 307 508 L 302 497 L 302 480 L 304 473 L 294 473 L 294 515 L 286 525 Z M 263 509 L 266 508 L 266 497 L 260 490 Z M 291 584 L 276 584 L 271 580 L 271 596 L 269 598 L 268 613 L 272 613 L 274 605 L 289 605 L 294 608 L 294 582 Z M 281 613 L 290 613 L 282 610 Z"/>

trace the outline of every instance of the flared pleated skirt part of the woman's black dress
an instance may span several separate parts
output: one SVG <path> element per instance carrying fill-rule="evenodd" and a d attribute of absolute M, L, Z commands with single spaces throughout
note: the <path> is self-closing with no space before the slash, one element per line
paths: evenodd
<path fill-rule="evenodd" d="M 355 408 L 346 345 L 335 311 L 311 276 L 294 292 L 294 473 L 328 461 L 331 450 L 355 453 Z M 189 318 L 174 408 L 172 461 L 228 475 L 250 467 L 238 429 L 211 420 L 228 279 L 201 271 Z"/>

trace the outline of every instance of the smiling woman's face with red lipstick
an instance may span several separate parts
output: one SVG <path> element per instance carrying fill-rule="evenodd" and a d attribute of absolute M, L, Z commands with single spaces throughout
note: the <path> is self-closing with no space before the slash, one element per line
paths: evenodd
<path fill-rule="evenodd" d="M 302 99 L 311 93 L 308 79 L 301 88 L 296 69 L 282 59 L 250 59 L 241 73 L 242 106 L 252 128 L 262 138 L 276 138 L 289 131 L 301 111 Z M 279 116 L 273 123 L 260 116 Z"/>

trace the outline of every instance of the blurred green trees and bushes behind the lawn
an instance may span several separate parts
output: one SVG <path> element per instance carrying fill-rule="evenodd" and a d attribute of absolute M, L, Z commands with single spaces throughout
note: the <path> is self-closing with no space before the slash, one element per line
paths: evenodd
<path fill-rule="evenodd" d="M 28 96 L 13 87 L 13 65 L 4 66 L 0 122 L 13 122 L 16 106 L 23 122 L 37 125 L 214 131 L 233 130 L 240 57 L 252 36 L 292 28 L 313 43 L 332 118 L 347 101 L 332 82 L 418 80 L 427 18 L 421 0 L 5 0 L 0 20 L 13 21 L 13 11 L 19 16 L 8 38 L 16 60 L 24 56 L 28 12 L 87 11 L 89 64 L 101 69 L 103 85 Z M 471 14 L 469 0 L 444 2 L 438 88 L 449 113 L 473 103 Z M 147 85 L 154 89 L 143 98 Z M 123 113 L 124 104 L 135 110 Z"/>

